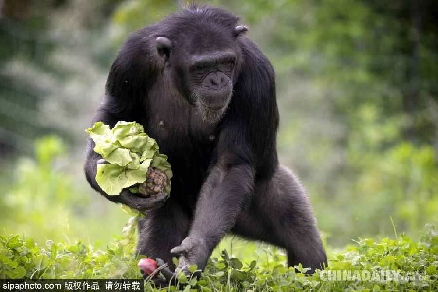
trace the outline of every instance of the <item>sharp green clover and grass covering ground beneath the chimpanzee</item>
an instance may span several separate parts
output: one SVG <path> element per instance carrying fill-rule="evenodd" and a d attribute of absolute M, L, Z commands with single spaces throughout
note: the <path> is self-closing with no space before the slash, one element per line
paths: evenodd
<path fill-rule="evenodd" d="M 141 279 L 133 240 L 132 229 L 126 228 L 114 246 L 102 251 L 82 241 L 69 245 L 48 240 L 41 247 L 32 238 L 0 236 L 0 278 Z M 286 256 L 274 250 L 261 260 L 243 263 L 223 250 L 220 258 L 210 259 L 200 279 L 179 275 L 177 287 L 147 283 L 145 291 L 437 291 L 438 231 L 427 224 L 419 243 L 403 234 L 381 242 L 359 238 L 311 276 L 302 266 L 279 264 L 285 261 Z"/>

